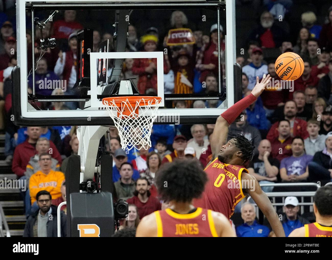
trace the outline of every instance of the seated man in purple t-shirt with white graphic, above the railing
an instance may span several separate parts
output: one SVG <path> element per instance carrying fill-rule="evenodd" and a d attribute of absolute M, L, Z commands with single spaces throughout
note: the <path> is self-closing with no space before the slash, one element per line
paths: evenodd
<path fill-rule="evenodd" d="M 292 156 L 284 158 L 280 163 L 280 177 L 284 182 L 305 181 L 309 176 L 308 164 L 312 156 L 305 154 L 304 141 L 294 137 L 291 143 Z"/>

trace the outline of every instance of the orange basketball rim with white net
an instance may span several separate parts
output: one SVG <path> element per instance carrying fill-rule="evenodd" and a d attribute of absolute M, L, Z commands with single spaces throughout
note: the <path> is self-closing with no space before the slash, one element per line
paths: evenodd
<path fill-rule="evenodd" d="M 123 149 L 139 149 L 140 145 L 145 149 L 151 147 L 151 129 L 160 103 L 161 97 L 150 96 L 103 98 L 103 105 L 119 130 Z"/>

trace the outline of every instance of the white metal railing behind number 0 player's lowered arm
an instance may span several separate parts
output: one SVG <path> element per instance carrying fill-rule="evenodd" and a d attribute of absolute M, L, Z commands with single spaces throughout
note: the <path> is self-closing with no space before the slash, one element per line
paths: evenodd
<path fill-rule="evenodd" d="M 332 185 L 332 182 L 328 183 Z M 327 184 L 326 184 L 327 185 Z M 325 185 L 325 186 L 326 186 Z M 271 183 L 271 184 L 260 184 L 261 187 L 269 187 L 269 186 L 274 186 L 274 187 L 298 187 L 298 186 L 310 186 L 310 187 L 315 187 L 316 191 L 318 188 L 320 188 L 320 185 L 317 183 Z M 298 203 L 301 209 L 301 215 L 304 213 L 304 207 L 303 206 L 312 206 L 313 204 L 313 196 L 315 195 L 316 191 L 292 191 L 292 192 L 266 192 L 265 194 L 269 197 L 272 198 L 272 205 L 274 206 L 274 209 L 277 211 L 277 206 L 284 206 L 285 202 L 285 197 L 288 196 L 294 196 L 294 197 L 301 197 L 301 202 Z M 282 203 L 276 203 L 276 198 L 283 198 Z M 310 197 L 310 202 L 304 202 L 304 197 Z M 248 197 L 247 201 L 251 199 L 251 196 Z M 256 203 L 253 203 L 255 206 Z M 310 212 L 312 212 L 312 207 L 310 207 Z M 257 217 L 258 217 L 258 210 L 256 211 Z"/>

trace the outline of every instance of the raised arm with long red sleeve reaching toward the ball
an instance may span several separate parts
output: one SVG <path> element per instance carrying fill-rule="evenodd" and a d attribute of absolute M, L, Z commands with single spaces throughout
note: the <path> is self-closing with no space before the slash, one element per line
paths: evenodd
<path fill-rule="evenodd" d="M 234 120 L 244 109 L 246 109 L 262 94 L 267 84 L 270 82 L 270 79 L 270 74 L 263 77 L 261 82 L 259 82 L 259 78 L 257 77 L 257 83 L 251 91 L 251 94 L 236 102 L 217 118 L 211 136 L 212 159 L 218 156 L 221 146 L 226 143 L 229 125 L 234 122 Z"/>

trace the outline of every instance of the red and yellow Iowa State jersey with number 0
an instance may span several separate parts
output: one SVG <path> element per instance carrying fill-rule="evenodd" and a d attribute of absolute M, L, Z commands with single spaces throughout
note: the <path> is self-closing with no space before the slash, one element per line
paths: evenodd
<path fill-rule="evenodd" d="M 241 174 L 247 172 L 240 165 L 222 163 L 215 158 L 204 170 L 207 184 L 200 199 L 194 200 L 195 207 L 211 209 L 231 217 L 234 208 L 245 196 L 242 192 Z"/>

